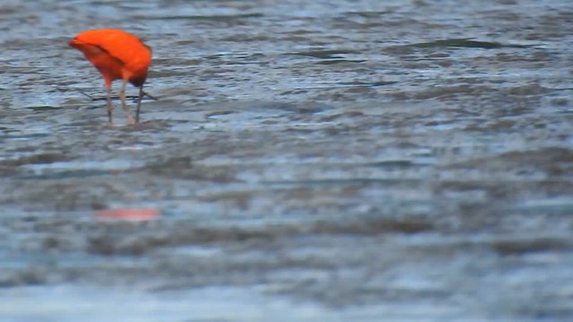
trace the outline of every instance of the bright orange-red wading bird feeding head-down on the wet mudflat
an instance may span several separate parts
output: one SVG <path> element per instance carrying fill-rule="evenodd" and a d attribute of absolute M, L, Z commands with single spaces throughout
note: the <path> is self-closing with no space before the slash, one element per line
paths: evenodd
<path fill-rule="evenodd" d="M 119 97 L 130 124 L 139 123 L 143 83 L 151 64 L 151 47 L 129 32 L 115 29 L 83 31 L 70 41 L 96 66 L 104 78 L 107 89 L 107 118 L 112 123 L 111 83 L 122 80 Z M 125 83 L 129 81 L 140 88 L 135 119 L 125 104 Z"/>

